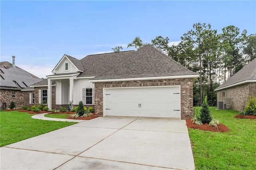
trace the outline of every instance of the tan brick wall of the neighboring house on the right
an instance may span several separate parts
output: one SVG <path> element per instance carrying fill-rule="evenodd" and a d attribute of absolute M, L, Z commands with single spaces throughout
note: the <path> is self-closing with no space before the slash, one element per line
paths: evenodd
<path fill-rule="evenodd" d="M 244 111 L 249 96 L 256 95 L 256 83 L 245 83 L 242 85 L 230 87 L 217 91 L 217 101 L 223 101 L 223 92 L 225 92 L 226 109 Z"/>

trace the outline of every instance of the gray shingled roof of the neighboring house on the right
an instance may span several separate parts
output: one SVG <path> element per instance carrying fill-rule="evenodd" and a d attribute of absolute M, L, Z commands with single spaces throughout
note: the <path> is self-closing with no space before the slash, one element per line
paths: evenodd
<path fill-rule="evenodd" d="M 225 81 L 222 85 L 217 87 L 215 90 L 217 91 L 220 88 L 233 85 L 235 83 L 240 83 L 246 80 L 256 81 L 256 59 L 252 60 L 242 69 L 240 69 L 236 74 L 232 75 L 227 81 Z"/>

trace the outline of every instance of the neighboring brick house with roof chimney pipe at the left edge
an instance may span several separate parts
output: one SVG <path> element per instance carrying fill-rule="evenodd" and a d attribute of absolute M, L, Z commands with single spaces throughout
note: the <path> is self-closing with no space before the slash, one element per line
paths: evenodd
<path fill-rule="evenodd" d="M 12 56 L 12 59 L 12 64 L 8 61 L 0 62 L 0 104 L 2 106 L 3 103 L 6 103 L 7 108 L 12 101 L 16 107 L 26 105 L 25 101 L 30 99 L 29 93 L 32 94 L 34 91 L 29 86 L 42 80 L 17 67 L 15 56 Z M 27 87 L 26 91 L 22 91 Z"/>

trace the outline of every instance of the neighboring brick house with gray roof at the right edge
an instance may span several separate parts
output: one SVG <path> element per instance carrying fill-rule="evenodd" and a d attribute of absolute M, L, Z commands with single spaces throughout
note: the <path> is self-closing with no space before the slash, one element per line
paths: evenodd
<path fill-rule="evenodd" d="M 215 89 L 217 101 L 225 101 L 226 109 L 244 111 L 249 96 L 256 96 L 256 59 Z"/>

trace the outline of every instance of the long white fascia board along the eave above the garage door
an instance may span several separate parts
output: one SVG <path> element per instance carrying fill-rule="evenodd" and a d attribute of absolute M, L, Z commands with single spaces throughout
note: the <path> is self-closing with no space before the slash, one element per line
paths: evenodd
<path fill-rule="evenodd" d="M 101 79 L 89 80 L 89 82 L 111 82 L 111 81 L 137 81 L 137 80 L 156 80 L 156 79 L 180 79 L 180 78 L 197 78 L 199 74 L 193 75 L 173 75 L 173 76 L 160 76 L 160 77 L 138 77 L 138 78 L 124 78 L 124 79 Z"/>

